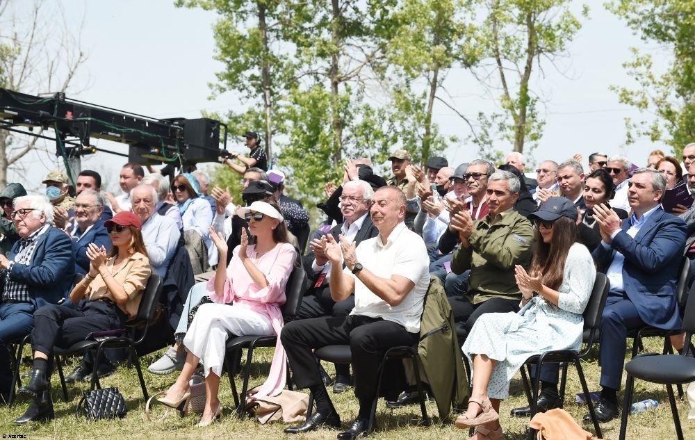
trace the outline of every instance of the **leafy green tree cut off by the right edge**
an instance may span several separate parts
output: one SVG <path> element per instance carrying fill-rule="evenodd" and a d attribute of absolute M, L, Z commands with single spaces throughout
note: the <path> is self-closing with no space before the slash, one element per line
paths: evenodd
<path fill-rule="evenodd" d="M 623 104 L 655 116 L 626 120 L 627 143 L 646 136 L 663 140 L 676 154 L 695 140 L 695 1 L 619 0 L 608 6 L 645 42 L 671 51 L 667 65 L 655 67 L 651 54 L 632 48 L 632 60 L 623 64 L 636 87 L 613 85 Z"/>

